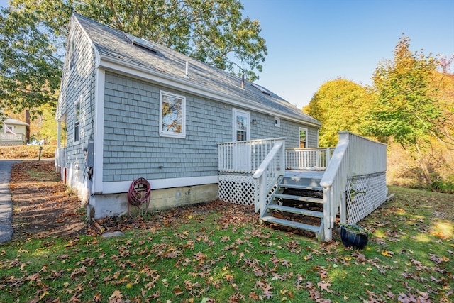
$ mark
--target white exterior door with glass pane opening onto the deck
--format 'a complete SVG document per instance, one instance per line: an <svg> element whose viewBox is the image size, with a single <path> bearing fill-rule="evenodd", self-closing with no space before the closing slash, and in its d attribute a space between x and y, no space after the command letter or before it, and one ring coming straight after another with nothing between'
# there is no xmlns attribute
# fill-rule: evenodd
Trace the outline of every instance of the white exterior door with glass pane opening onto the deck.
<svg viewBox="0 0 454 303"><path fill-rule="evenodd" d="M250 140L250 113L233 109L233 141ZM248 143L236 144L233 147L233 169L250 171L250 145Z"/></svg>

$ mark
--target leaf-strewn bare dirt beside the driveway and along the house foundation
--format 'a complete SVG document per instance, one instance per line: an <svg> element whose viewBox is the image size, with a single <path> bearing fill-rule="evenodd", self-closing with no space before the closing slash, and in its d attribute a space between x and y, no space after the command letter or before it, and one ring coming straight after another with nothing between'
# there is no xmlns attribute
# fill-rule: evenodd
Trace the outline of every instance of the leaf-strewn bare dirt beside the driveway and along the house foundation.
<svg viewBox="0 0 454 303"><path fill-rule="evenodd" d="M131 214L106 217L86 224L85 208L76 195L67 191L55 172L53 161L24 161L13 165L11 172L13 197L13 238L100 236L106 231L158 229L185 224L195 218L204 219L209 212L222 213L220 224L259 224L252 206L214 201L180 206L167 211L153 211L146 216ZM152 194L153 195L153 194ZM153 197L152 197L153 198Z"/></svg>

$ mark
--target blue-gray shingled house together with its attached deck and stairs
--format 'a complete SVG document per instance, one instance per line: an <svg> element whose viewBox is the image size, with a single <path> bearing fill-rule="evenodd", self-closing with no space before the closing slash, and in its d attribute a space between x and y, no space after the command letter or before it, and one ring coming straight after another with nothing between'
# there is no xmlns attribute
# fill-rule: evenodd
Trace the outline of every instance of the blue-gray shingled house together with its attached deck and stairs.
<svg viewBox="0 0 454 303"><path fill-rule="evenodd" d="M386 145L318 148L319 121L265 87L77 13L57 121L55 165L95 219L126 213L140 178L150 209L222 199L321 241L387 199Z"/></svg>

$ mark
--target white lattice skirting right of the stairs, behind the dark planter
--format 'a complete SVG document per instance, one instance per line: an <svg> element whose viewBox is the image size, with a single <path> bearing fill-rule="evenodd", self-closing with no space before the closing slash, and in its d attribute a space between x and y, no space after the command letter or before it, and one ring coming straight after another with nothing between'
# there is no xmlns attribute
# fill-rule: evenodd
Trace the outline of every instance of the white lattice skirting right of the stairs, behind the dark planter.
<svg viewBox="0 0 454 303"><path fill-rule="evenodd" d="M347 222L355 224L387 199L386 174L353 177L345 186Z"/></svg>

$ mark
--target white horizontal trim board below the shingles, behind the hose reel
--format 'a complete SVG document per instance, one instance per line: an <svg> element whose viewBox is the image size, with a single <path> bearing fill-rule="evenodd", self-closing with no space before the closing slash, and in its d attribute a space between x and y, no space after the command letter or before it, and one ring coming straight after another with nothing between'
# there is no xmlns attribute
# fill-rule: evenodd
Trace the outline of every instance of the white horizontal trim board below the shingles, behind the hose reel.
<svg viewBox="0 0 454 303"><path fill-rule="evenodd" d="M131 187L133 180L131 181L119 181L119 182L104 182L102 192L97 194L119 194L122 192L128 192ZM175 188L175 187L187 187L204 184L216 184L218 183L218 176L205 176L205 177L186 177L186 178L169 178L169 179L153 179L148 180L150 182L151 189L163 189L163 188ZM96 193L95 193L96 194Z"/></svg>

